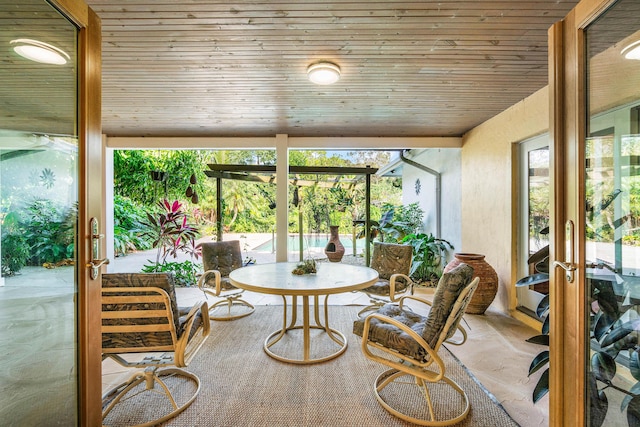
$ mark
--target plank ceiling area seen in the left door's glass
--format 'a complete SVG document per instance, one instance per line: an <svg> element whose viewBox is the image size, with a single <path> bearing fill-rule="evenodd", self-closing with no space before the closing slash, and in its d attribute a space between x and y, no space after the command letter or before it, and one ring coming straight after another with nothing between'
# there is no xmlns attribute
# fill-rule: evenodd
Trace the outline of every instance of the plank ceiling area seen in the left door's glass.
<svg viewBox="0 0 640 427"><path fill-rule="evenodd" d="M25 38L62 49L70 61L46 65L18 56L11 41ZM75 27L42 0L0 0L0 137L6 130L75 133L76 39Z"/></svg>

